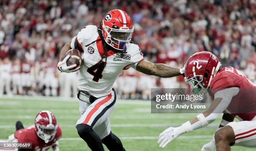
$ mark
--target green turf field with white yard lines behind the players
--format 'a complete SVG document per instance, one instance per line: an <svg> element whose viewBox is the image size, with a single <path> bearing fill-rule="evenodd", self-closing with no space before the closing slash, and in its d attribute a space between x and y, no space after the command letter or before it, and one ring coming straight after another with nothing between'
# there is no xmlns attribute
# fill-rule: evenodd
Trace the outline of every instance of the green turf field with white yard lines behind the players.
<svg viewBox="0 0 256 151"><path fill-rule="evenodd" d="M15 121L25 127L33 124L40 110L50 110L62 128L59 141L61 151L90 151L75 128L80 117L78 101L61 97L0 97L0 139L7 139L15 132ZM149 101L118 100L110 116L111 131L120 137L126 151L201 151L203 144L211 140L219 120L206 128L184 134L159 148L159 133L169 126L178 126L195 118L194 114L151 114ZM251 148L232 147L232 151L255 151ZM106 148L106 151L108 149Z"/></svg>

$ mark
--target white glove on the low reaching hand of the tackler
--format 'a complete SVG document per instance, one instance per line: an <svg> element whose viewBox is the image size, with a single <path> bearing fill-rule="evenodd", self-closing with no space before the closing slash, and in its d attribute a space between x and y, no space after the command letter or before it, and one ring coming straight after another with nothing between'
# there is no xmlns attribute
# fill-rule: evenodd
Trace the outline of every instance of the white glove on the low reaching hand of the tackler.
<svg viewBox="0 0 256 151"><path fill-rule="evenodd" d="M159 147L164 148L172 140L179 137L180 134L181 133L179 132L179 128L169 127L159 135L159 140L157 143L160 143Z"/></svg>

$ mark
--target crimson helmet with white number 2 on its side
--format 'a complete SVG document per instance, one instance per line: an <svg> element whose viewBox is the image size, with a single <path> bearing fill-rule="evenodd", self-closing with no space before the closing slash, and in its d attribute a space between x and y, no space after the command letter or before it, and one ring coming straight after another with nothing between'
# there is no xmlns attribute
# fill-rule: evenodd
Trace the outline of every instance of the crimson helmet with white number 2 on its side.
<svg viewBox="0 0 256 151"><path fill-rule="evenodd" d="M207 51L195 53L184 66L184 79L190 84L193 92L205 94L220 66L220 61L214 54Z"/></svg>

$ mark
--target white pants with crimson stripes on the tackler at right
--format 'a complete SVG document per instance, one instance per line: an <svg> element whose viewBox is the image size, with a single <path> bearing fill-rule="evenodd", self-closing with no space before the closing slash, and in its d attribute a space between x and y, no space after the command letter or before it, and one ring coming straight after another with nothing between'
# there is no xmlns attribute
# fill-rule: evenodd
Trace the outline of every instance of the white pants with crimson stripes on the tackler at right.
<svg viewBox="0 0 256 151"><path fill-rule="evenodd" d="M231 126L235 133L233 146L256 147L256 120L230 122L227 126ZM205 144L202 151L216 151L215 140Z"/></svg>

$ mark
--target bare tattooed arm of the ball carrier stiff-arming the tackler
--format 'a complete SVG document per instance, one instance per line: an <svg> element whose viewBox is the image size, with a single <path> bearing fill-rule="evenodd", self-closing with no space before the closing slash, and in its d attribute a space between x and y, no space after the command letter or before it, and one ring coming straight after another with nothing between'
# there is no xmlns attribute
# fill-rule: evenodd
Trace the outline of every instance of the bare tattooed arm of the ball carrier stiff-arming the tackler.
<svg viewBox="0 0 256 151"><path fill-rule="evenodd" d="M170 67L166 64L154 64L149 61L141 61L137 64L136 70L148 75L154 75L157 77L176 77L184 73L183 69Z"/></svg>

